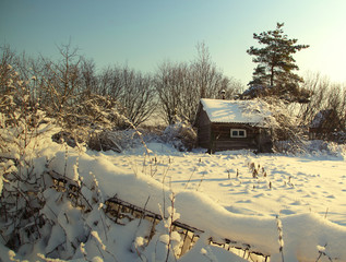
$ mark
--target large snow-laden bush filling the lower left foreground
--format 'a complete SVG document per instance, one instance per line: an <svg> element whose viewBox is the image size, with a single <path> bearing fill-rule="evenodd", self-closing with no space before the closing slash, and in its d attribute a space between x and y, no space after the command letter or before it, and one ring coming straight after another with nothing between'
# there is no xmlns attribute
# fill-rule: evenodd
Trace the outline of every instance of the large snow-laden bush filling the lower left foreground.
<svg viewBox="0 0 346 262"><path fill-rule="evenodd" d="M86 258L83 247L93 245L103 250L102 258L114 261L95 237L106 235L111 224L99 212L104 200L96 178L90 174L83 182L77 157L68 168L67 144L62 144L61 174L51 168L55 151L61 148L53 147L46 134L52 126L44 121L45 112L31 105L28 85L15 72L10 80L0 112L0 260L13 261L17 255L19 260L70 260L79 253ZM97 227L102 230L93 234Z"/></svg>

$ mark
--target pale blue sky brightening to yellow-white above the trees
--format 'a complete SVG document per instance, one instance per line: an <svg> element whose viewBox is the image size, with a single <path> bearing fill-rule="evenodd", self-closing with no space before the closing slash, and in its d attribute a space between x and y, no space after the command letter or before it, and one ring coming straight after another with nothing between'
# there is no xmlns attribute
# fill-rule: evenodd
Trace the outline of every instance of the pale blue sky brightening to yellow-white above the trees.
<svg viewBox="0 0 346 262"><path fill-rule="evenodd" d="M153 72L166 59L191 61L204 41L223 72L247 84L253 33L274 29L311 47L295 56L299 74L346 82L345 0L1 0L0 44L55 58L72 40L98 69L124 64Z"/></svg>

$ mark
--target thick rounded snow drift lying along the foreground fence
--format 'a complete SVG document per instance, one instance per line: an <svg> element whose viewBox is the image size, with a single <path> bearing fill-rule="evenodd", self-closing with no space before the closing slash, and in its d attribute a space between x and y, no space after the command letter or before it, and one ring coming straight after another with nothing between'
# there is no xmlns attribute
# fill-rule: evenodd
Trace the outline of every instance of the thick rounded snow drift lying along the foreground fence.
<svg viewBox="0 0 346 262"><path fill-rule="evenodd" d="M117 195L138 206L159 214L159 205L169 203L171 191L160 182L138 171L124 171L99 156L87 154L70 155L68 158L68 176L73 179L73 166L79 158L80 176L90 179L90 172L97 178L104 198ZM64 166L63 152L58 152L51 168L62 172ZM165 202L165 203L164 203ZM159 204L159 205L158 205ZM176 192L175 207L180 213L179 221L207 231L215 238L228 238L277 258L278 233L273 217L256 217L232 214L196 191ZM319 247L325 247L331 258L346 261L346 228L323 219L317 214L287 215L281 217L283 223L285 255L287 261L315 261Z"/></svg>

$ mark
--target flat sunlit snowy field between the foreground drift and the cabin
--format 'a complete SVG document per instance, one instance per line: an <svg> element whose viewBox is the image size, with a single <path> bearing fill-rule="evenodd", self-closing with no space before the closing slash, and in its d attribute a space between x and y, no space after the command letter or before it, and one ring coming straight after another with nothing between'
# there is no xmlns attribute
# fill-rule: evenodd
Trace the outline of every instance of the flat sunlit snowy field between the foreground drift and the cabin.
<svg viewBox="0 0 346 262"><path fill-rule="evenodd" d="M311 212L346 226L346 162L342 154L287 156L241 151L210 155L180 153L160 143L148 144L148 148L152 163L143 148L108 152L105 158L164 181L175 192L202 192L236 214L285 216Z"/></svg>

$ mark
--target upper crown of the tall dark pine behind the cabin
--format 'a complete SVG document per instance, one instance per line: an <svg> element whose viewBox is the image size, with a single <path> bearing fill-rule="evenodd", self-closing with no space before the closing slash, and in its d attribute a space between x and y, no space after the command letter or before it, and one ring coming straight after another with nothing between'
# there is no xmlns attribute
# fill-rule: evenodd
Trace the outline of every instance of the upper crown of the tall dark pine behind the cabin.
<svg viewBox="0 0 346 262"><path fill-rule="evenodd" d="M253 34L253 38L264 47L251 46L247 50L250 56L254 56L252 61L258 63L249 85L274 87L288 84L293 86L302 82L302 79L293 72L299 70L293 55L309 46L296 45L298 40L289 39L284 34L283 26L284 23L277 23L274 31Z"/></svg>

